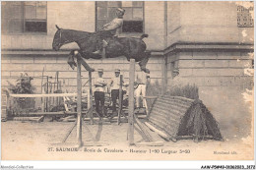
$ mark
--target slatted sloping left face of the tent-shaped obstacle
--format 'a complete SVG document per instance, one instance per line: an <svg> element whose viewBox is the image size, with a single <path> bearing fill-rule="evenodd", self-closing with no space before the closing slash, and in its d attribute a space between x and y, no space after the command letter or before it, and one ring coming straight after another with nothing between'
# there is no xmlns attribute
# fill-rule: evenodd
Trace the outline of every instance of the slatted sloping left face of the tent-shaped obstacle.
<svg viewBox="0 0 256 170"><path fill-rule="evenodd" d="M145 124L164 140L176 142L180 120L193 101L180 96L162 95L155 100L148 117L149 122Z"/></svg>

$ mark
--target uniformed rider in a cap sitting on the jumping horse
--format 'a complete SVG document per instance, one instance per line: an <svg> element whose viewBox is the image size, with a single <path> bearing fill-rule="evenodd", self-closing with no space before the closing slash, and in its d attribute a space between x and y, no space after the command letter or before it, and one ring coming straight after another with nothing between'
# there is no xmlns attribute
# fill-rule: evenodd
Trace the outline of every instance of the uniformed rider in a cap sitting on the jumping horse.
<svg viewBox="0 0 256 170"><path fill-rule="evenodd" d="M122 32L124 13L124 9L117 8L115 13L116 18L113 19L112 22L104 25L102 29L96 31L96 35L102 39L102 42L100 41L97 44L97 50L93 52L93 54L102 55L103 48L105 48L108 44L105 38L112 36L117 37Z"/></svg>

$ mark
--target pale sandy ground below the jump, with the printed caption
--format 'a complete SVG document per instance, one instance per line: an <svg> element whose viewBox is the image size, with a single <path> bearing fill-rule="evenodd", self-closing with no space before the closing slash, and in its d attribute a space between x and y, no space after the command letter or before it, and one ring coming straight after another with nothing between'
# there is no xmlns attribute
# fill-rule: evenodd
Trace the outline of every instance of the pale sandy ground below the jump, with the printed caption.
<svg viewBox="0 0 256 170"><path fill-rule="evenodd" d="M253 159L253 139L225 138L225 142L183 140L164 142L151 132L155 141L163 146L129 146L128 124L87 125L83 127L83 142L92 143L92 136L101 146L83 146L78 151L76 129L66 144L61 142L73 122L2 122L3 160L238 160ZM227 134L224 134L224 137ZM134 141L141 136L135 132ZM90 142L91 141L91 142ZM72 150L73 149L73 150ZM68 151L69 150L69 151ZM71 150L71 151L70 151ZM215 151L219 153L215 153ZM226 153L224 153L226 152Z"/></svg>

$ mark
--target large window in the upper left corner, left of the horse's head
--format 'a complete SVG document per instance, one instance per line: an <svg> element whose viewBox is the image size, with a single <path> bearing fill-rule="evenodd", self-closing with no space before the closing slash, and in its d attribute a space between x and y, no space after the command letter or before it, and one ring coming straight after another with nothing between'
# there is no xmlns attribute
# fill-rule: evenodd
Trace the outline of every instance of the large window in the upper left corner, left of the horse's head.
<svg viewBox="0 0 256 170"><path fill-rule="evenodd" d="M46 32L47 2L2 2L2 33Z"/></svg>

